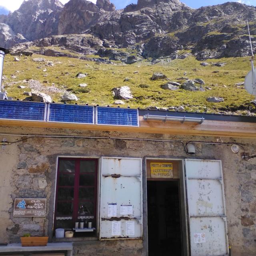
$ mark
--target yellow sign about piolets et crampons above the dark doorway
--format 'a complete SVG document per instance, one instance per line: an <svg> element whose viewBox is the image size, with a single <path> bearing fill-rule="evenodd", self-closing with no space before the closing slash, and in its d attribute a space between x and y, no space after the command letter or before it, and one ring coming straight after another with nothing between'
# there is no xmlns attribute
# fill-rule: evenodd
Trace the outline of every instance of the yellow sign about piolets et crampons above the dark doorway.
<svg viewBox="0 0 256 256"><path fill-rule="evenodd" d="M172 163L150 163L151 178L173 178Z"/></svg>

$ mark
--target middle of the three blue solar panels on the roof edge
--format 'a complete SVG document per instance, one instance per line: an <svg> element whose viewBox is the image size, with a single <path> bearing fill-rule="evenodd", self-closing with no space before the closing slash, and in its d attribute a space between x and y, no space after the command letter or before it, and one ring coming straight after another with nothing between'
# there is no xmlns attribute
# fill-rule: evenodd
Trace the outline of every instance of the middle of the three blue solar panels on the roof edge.
<svg viewBox="0 0 256 256"><path fill-rule="evenodd" d="M48 122L94 124L94 107L50 103Z"/></svg>

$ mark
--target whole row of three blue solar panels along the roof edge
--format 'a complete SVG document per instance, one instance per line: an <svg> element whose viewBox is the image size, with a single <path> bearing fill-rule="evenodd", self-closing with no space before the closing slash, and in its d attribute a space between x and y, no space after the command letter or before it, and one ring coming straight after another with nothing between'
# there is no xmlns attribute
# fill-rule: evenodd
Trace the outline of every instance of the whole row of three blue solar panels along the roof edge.
<svg viewBox="0 0 256 256"><path fill-rule="evenodd" d="M94 124L94 109L93 106L0 100L0 119ZM96 124L100 125L139 126L137 109L97 107L96 116Z"/></svg>

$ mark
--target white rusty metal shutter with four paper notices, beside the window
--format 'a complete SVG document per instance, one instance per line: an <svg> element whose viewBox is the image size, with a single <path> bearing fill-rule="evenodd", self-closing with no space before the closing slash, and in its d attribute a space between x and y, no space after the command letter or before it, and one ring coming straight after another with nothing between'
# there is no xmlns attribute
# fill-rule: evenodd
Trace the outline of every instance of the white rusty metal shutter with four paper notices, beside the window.
<svg viewBox="0 0 256 256"><path fill-rule="evenodd" d="M100 239L142 237L142 159L101 160Z"/></svg>

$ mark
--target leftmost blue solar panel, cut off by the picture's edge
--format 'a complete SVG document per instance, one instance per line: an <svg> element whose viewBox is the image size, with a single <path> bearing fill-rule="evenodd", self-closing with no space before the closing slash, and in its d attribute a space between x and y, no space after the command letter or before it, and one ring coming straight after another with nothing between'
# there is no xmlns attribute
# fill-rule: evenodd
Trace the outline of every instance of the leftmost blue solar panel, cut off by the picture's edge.
<svg viewBox="0 0 256 256"><path fill-rule="evenodd" d="M45 121L45 110L42 102L0 100L1 119Z"/></svg>

